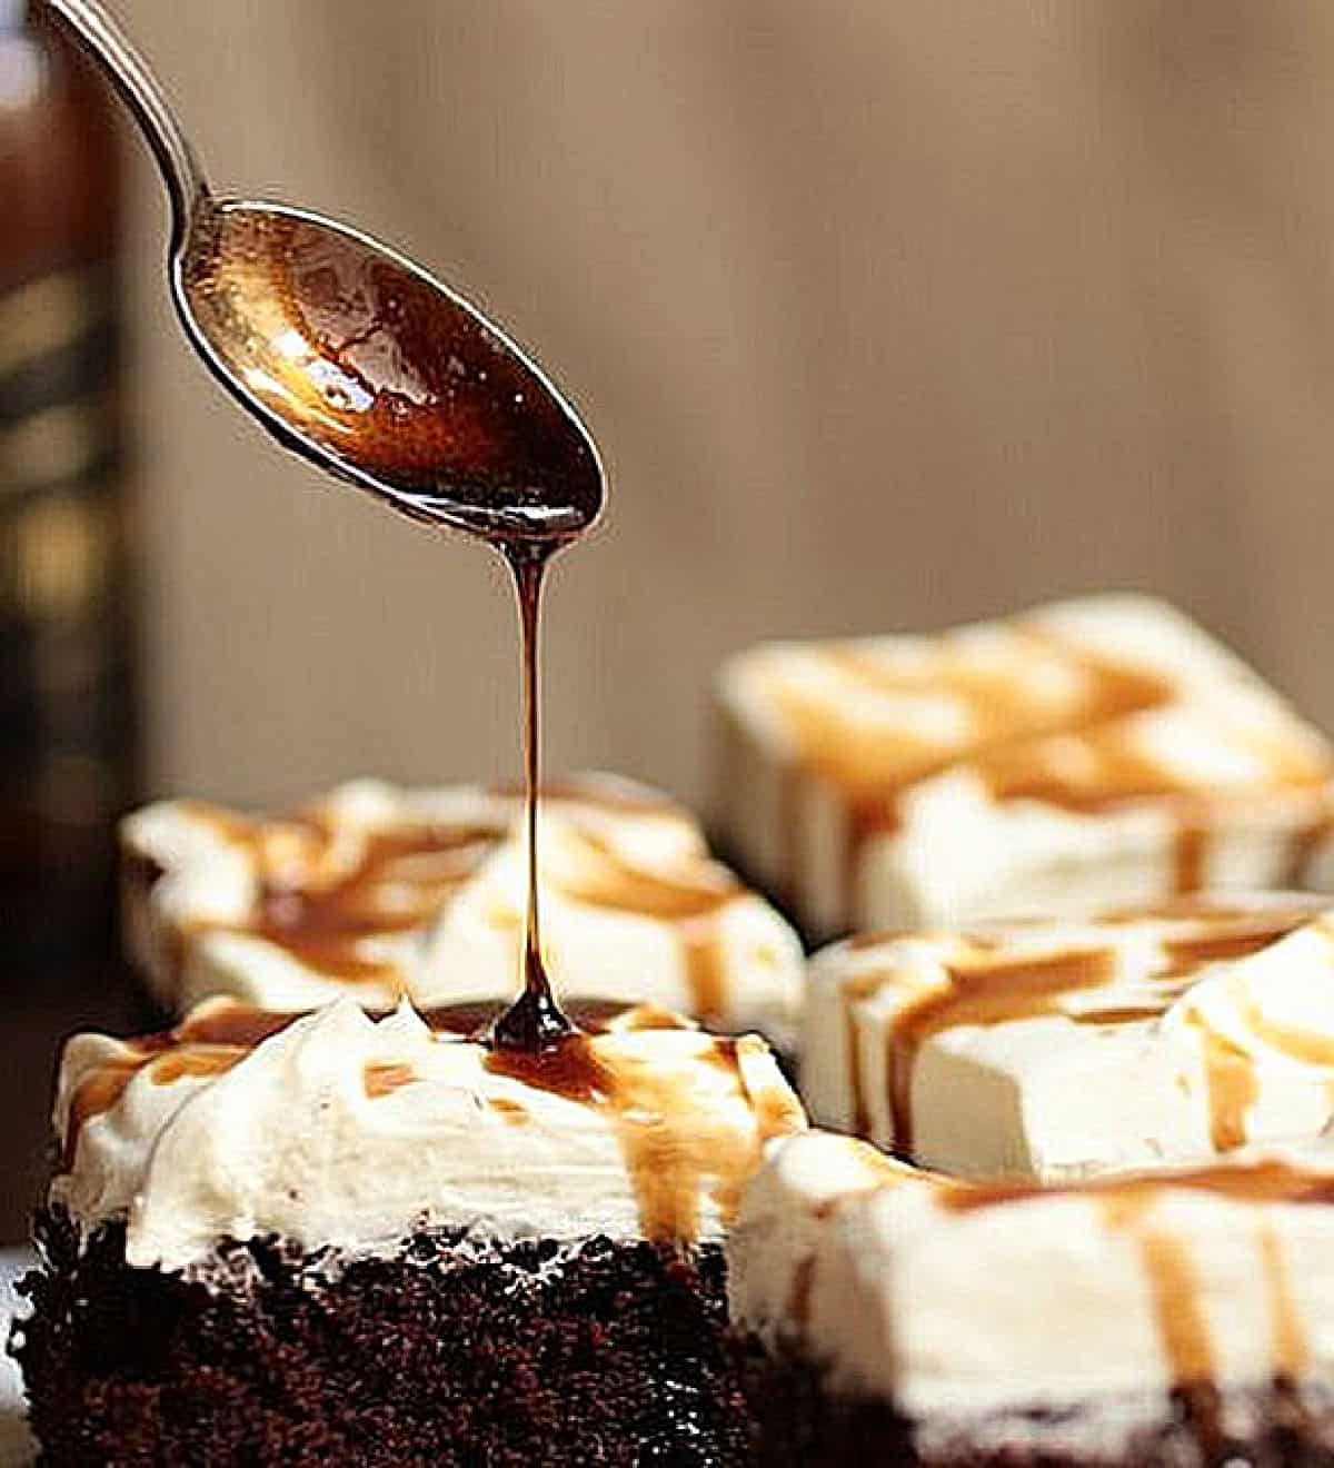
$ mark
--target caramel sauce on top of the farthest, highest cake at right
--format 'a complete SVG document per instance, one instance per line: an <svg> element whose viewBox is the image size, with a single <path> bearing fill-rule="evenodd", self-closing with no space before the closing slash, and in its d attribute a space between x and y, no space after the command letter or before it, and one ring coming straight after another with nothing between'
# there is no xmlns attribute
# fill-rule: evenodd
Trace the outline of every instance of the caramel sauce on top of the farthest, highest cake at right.
<svg viewBox="0 0 1334 1468"><path fill-rule="evenodd" d="M1240 787L1209 788L1155 759L1137 738L1136 716L1181 697L1173 681L1083 647L1035 625L1005 628L1001 642L969 644L944 637L920 656L876 656L854 644L819 656L834 686L770 677L770 696L795 744L784 772L785 876L800 890L800 813L804 781L839 790L848 806L844 916L856 912L856 882L866 843L898 828L904 794L954 768L973 771L996 802L1036 802L1074 815L1152 804L1173 821L1173 888L1206 885L1209 837L1220 806L1244 804L1266 791L1316 793L1334 769L1322 750L1239 734L1264 775ZM838 691L838 684L845 690ZM879 722L850 715L854 699L903 700L903 713ZM933 718L922 718L933 708ZM916 709L916 712L914 712ZM1296 875L1334 822L1321 815L1294 843Z"/></svg>

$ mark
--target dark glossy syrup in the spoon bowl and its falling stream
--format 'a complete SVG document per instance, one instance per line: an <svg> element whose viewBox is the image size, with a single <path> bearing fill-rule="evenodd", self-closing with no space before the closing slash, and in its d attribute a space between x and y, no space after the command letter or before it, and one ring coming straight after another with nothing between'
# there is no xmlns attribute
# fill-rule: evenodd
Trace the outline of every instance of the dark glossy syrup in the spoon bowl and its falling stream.
<svg viewBox="0 0 1334 1468"><path fill-rule="evenodd" d="M222 207L183 282L210 348L269 410L399 512L467 530L508 564L520 608L528 913L524 986L497 1048L574 1031L542 962L537 900L543 578L603 501L586 430L521 354L436 282L361 238Z"/></svg>

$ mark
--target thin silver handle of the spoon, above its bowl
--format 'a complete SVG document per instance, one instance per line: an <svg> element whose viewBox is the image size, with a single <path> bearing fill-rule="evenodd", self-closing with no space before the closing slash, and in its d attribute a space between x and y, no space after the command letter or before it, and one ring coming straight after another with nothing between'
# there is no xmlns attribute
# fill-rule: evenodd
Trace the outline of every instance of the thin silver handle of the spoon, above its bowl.
<svg viewBox="0 0 1334 1468"><path fill-rule="evenodd" d="M97 0L47 0L75 40L106 72L148 139L172 200L172 241L185 235L208 185L161 82Z"/></svg>

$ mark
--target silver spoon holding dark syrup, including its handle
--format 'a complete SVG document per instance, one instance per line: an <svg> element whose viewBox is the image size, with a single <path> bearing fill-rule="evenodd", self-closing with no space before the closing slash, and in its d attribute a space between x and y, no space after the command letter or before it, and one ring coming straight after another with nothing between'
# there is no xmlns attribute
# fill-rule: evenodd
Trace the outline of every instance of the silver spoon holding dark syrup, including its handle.
<svg viewBox="0 0 1334 1468"><path fill-rule="evenodd" d="M414 520L555 546L606 496L587 429L509 336L361 230L216 198L161 85L95 0L47 0L134 113L172 204L185 333L285 446Z"/></svg>

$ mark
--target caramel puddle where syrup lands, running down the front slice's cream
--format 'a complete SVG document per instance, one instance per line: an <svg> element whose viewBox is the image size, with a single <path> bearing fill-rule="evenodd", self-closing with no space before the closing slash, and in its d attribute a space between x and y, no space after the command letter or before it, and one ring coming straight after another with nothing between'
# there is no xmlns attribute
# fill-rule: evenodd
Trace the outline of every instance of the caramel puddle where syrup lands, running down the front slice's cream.
<svg viewBox="0 0 1334 1468"><path fill-rule="evenodd" d="M744 1091L740 1047L747 1039L715 1039L699 1063L715 1064ZM741 1191L759 1167L765 1142L804 1124L787 1088L751 1097L756 1127L740 1136L721 1122L709 1098L699 1098L687 1073L663 1075L650 1061L612 1064L594 1036L572 1033L540 1051L492 1050L487 1069L537 1091L606 1111L616 1124L625 1167L635 1189L644 1238L682 1243L699 1238L706 1195L731 1223Z"/></svg>

